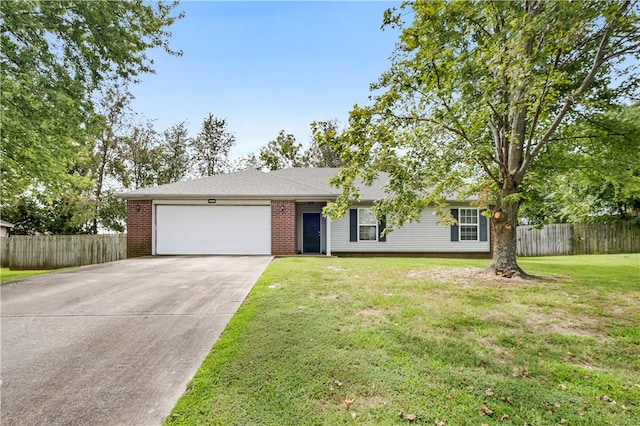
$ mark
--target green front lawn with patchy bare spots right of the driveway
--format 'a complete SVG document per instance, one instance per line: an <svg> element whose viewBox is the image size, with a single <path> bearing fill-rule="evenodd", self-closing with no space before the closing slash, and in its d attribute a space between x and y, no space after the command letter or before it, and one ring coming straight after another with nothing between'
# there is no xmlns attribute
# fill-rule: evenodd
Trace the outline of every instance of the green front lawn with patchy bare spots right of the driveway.
<svg viewBox="0 0 640 426"><path fill-rule="evenodd" d="M637 425L640 255L520 264L278 259L165 423Z"/></svg>

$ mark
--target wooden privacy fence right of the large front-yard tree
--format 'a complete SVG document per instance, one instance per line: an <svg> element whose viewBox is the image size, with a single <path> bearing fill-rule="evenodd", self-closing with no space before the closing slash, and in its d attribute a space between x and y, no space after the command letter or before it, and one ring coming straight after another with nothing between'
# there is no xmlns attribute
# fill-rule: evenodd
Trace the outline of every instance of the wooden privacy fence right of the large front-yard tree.
<svg viewBox="0 0 640 426"><path fill-rule="evenodd" d="M640 252L640 225L563 223L518 226L518 256Z"/></svg>

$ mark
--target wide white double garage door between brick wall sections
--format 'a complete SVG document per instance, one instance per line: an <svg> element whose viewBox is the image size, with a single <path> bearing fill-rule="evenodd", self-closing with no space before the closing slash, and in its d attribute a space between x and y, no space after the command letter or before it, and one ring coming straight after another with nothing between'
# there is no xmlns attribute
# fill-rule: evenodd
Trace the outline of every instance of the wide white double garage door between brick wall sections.
<svg viewBox="0 0 640 426"><path fill-rule="evenodd" d="M271 254L271 207L157 205L156 254Z"/></svg>

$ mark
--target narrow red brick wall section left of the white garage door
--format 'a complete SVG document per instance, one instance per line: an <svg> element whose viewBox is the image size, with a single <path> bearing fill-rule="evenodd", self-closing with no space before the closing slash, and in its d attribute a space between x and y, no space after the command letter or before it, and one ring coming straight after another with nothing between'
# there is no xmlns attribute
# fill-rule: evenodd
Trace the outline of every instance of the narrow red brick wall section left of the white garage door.
<svg viewBox="0 0 640 426"><path fill-rule="evenodd" d="M127 257L151 255L151 200L127 200Z"/></svg>

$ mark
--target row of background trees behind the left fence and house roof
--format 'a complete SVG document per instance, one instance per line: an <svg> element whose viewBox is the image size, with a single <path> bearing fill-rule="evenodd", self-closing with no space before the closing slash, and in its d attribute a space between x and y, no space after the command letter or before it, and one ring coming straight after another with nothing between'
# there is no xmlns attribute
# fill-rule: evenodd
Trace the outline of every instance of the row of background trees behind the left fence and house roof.
<svg viewBox="0 0 640 426"><path fill-rule="evenodd" d="M330 147L312 140L305 148L284 130L258 152L231 158L236 137L226 118L208 114L196 134L186 121L158 130L131 110L132 99L122 87L106 91L96 106L99 131L77 146L66 176L55 177L66 182L63 188L30 186L3 197L2 218L16 225L14 234L123 232L126 205L119 192L250 168L340 165ZM336 120L319 125L338 131Z"/></svg>

